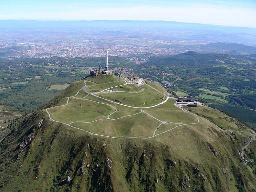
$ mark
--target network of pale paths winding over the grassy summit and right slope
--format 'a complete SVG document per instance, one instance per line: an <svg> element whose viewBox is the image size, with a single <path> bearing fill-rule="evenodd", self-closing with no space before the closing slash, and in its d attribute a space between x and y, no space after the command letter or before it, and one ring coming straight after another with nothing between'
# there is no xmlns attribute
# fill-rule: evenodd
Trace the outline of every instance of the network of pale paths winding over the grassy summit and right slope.
<svg viewBox="0 0 256 192"><path fill-rule="evenodd" d="M120 79L119 79L119 80L120 80ZM117 80L117 81L119 81L119 80ZM117 81L113 81L113 82L117 82ZM144 81L144 82L145 82L145 81ZM111 119L111 118L110 118L110 115L112 115L112 114L114 114L115 112L117 112L118 109L116 109L114 106L109 105L109 104L106 104L106 103L97 102L97 101L93 101L93 100L89 100L89 99L84 99L84 98L86 98L88 95L92 95L92 96L98 97L98 98L103 99L103 100L107 100L107 101L109 101L109 102L112 102L112 103L115 103L115 104L118 104L118 105L122 105L122 106L126 106L126 107L131 107L131 108L138 108L138 109L146 109L146 108L156 107L156 106L159 106L159 105L162 105L162 104L166 103L166 102L168 101L168 99L169 99L169 94L168 94L168 96L167 96L167 98L165 99L165 101L163 101L163 102L161 102L161 103L159 103L159 104L156 104L156 105L154 105L154 106L150 106L150 107L133 107L133 106L124 105L124 104L121 104L121 103L118 103L118 102L115 102L115 101L111 101L111 100L108 100L108 99L99 97L99 96L95 95L94 93L89 93L89 92L86 91L86 88L88 88L88 86L86 86L86 81L84 81L84 83L85 83L85 86L83 86L74 96L68 97L66 104L60 105L60 106L54 106L54 107L50 107L50 108L47 108L47 109L46 109L46 112L47 112L49 118L50 118L52 121L65 124L65 125L67 125L67 126L69 126L69 127L72 127L72 128L75 128L75 129L78 129L78 130L81 130L81 131L85 131L85 132L87 132L87 133L89 133L89 134L92 134L92 135L102 136L102 137L107 137L107 138L113 138L113 139L151 139L151 138L154 138L154 137L156 137L156 136L159 136L159 135L162 135L162 134L164 134L164 133L167 133L167 132L169 132L169 131L171 131L171 130L177 128L177 127L181 127L181 126L185 126L185 125L193 125L193 124L199 123L199 118L198 118L198 116L197 116L196 114L193 114L193 113L189 112L188 110L186 110L186 109L184 109L184 108L182 108L182 107L179 107L179 108L180 108L181 110L183 110L185 113L190 113L190 114L195 115L195 116L196 116L196 119L197 119L197 122L184 124L184 123L173 123L173 122L168 122L168 121L161 121L161 120L157 119L156 117L152 116L151 114L145 112L144 110L141 110L139 113L132 114L132 115L126 115L126 116L123 116L123 117L120 117L120 118L117 118L117 119L125 118L125 117L128 117L128 116L134 116L134 115L137 115L137 114L140 114L140 113L145 113L145 114L147 114L147 115L150 116L151 118L154 118L155 120L157 120L157 121L160 122L160 124L158 125L158 127L156 127L156 129L155 129L155 131L153 132L153 135L152 135L151 137L112 137L112 136L96 134L96 133L92 133L92 132L90 132L90 131L86 131L86 130L84 130L84 129L80 129L80 128L78 128L78 127L72 126L71 124L72 124L72 123L76 123L76 122L80 122L80 123L92 123L92 122L95 122L95 121L106 120L106 119L117 120L117 119ZM107 82L107 83L111 83L111 82ZM101 83L101 84L106 84L106 83ZM128 83L126 82L124 85L126 85L126 84L128 84ZM96 85L100 85L100 84L96 84ZM147 84L147 85L148 85L148 84ZM95 86L95 85L91 85L91 86ZM91 86L89 86L89 87L91 87ZM114 87L119 87L119 86L122 86L122 85L118 85L118 86L114 86ZM151 87L151 88L153 88L153 87L150 86L150 85L148 85L148 86ZM111 88L114 88L114 87L111 87ZM108 88L108 89L110 89L110 88ZM105 89L105 90L108 90L108 89ZM155 89L155 88L153 88L153 89ZM77 96L78 93L79 93L81 90L83 90L84 92L86 92L88 95L85 96L85 97L83 97L83 98L76 98L75 96ZM105 91L105 90L103 90L103 91ZM155 89L155 90L158 91L158 92L160 92L160 91L157 90L157 89ZM101 92L102 92L102 91L101 91ZM131 93L133 93L133 92L131 92ZM163 94L162 92L160 92L160 93ZM163 94L163 95L165 95L165 94ZM115 109L115 111L114 111L113 113L111 113L110 115L108 115L107 118L98 119L98 120L91 121L91 122L75 121L75 122L71 122L71 123L67 124L67 123L60 122L60 121L56 121L56 120L52 119L50 113L48 112L48 109L55 108L55 107L66 106L66 105L68 104L69 99L70 99L71 97L73 97L73 98L75 98L75 99L88 100L88 101L92 101L92 102L96 102L96 103L101 103L101 104L109 105L109 106L113 107L113 108ZM171 129L168 129L168 130L166 130L166 131L163 131L163 132L161 132L161 133L155 134L156 131L159 129L159 127L160 127L162 124L165 124L165 125L166 125L166 124L168 124L168 123L179 124L179 125L177 125L177 126L171 128ZM237 130L224 130L224 129L223 129L223 131L227 131L227 132L243 132L243 133L248 133L248 134L250 134L250 135L253 136L252 140L250 140L250 142L249 142L246 146L244 146L244 147L242 148L241 157L242 157L242 159L245 161L245 163L247 163L248 160L246 160L245 157L244 157L244 155L245 155L245 149L251 144L251 142L252 142L253 140L255 140L255 134L252 134L252 133L246 132L246 131L237 131Z"/></svg>

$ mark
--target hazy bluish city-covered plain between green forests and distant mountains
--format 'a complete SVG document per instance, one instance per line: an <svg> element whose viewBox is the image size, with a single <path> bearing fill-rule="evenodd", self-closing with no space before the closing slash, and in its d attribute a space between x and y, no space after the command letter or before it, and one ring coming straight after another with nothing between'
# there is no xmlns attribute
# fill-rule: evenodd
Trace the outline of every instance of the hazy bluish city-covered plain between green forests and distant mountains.
<svg viewBox="0 0 256 192"><path fill-rule="evenodd" d="M3 21L0 21L0 56L7 59L104 57L105 47L108 45L109 56L125 57L135 63L143 63L153 56L175 55L187 51L233 53L233 50L225 46L215 46L214 49L205 46L209 43L243 42L248 46L256 45L254 30L250 28L215 29L211 26L209 29L209 26L198 24L200 28L196 29L198 26L172 22L163 26L160 22L157 24L159 28L152 28L151 23L142 22L135 29L129 28L129 23L125 22L123 27L116 27L115 22L103 22L99 24L102 28L89 28L83 23L79 23L81 26L68 23L59 28L42 29L37 21L32 24L29 21L17 21L18 23L13 24L13 30L12 22L9 25L1 22Z"/></svg>

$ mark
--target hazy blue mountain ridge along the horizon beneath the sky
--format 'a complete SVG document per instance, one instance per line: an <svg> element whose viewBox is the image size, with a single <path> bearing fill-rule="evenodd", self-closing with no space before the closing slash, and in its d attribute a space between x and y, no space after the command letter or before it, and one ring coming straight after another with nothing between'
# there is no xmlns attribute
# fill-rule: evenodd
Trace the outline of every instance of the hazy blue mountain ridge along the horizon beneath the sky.
<svg viewBox="0 0 256 192"><path fill-rule="evenodd" d="M60 28L65 27L72 29L74 27L95 27L95 28L109 28L109 29L120 29L120 28L137 28L137 27L158 27L158 28L169 28L169 29L202 29L207 30L221 30L232 33L250 33L256 34L255 28L248 27L230 27L210 24L199 24L199 23L183 23L175 21L136 21L136 20L93 20L93 21L37 21L37 20L0 20L1 29L13 29L13 28Z"/></svg>

